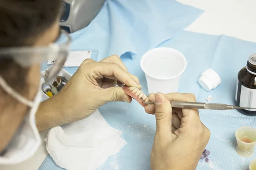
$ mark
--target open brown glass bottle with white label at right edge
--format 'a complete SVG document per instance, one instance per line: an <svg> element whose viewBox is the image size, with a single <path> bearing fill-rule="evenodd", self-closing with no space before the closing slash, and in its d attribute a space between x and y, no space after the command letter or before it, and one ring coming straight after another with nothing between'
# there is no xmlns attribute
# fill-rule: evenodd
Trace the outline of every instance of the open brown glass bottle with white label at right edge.
<svg viewBox="0 0 256 170"><path fill-rule="evenodd" d="M238 73L236 105L256 108L256 54L249 57L246 67ZM256 116L256 109L241 109L241 113Z"/></svg>

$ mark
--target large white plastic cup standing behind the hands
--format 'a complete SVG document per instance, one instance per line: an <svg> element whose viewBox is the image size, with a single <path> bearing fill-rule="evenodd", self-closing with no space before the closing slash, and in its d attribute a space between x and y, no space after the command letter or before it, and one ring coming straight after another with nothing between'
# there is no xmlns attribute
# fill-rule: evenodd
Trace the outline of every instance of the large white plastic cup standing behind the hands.
<svg viewBox="0 0 256 170"><path fill-rule="evenodd" d="M140 66L147 79L149 94L175 93L186 68L186 59L175 49L154 48L143 55Z"/></svg>

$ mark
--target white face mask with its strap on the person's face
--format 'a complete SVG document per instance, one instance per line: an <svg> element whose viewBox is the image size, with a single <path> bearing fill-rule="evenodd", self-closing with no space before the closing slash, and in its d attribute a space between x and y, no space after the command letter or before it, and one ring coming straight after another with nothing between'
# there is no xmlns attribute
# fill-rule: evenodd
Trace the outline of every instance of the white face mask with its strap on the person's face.
<svg viewBox="0 0 256 170"><path fill-rule="evenodd" d="M17 164L33 156L41 144L41 138L35 125L35 113L41 102L41 92L38 89L34 101L29 101L14 91L1 76L0 87L14 99L30 107L15 136L6 147L5 153L0 156L0 164ZM0 138L3 137L0 136Z"/></svg>

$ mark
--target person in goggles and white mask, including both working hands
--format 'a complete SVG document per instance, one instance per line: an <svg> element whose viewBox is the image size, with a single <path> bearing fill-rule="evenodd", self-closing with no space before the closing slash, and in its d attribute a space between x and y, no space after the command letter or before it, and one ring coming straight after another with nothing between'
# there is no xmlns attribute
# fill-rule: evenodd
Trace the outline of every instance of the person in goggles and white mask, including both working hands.
<svg viewBox="0 0 256 170"><path fill-rule="evenodd" d="M58 25L61 0L0 0L0 164L17 164L38 149L39 132L88 117L111 101L131 102L122 86L142 88L121 59L86 59L55 96L41 102L40 65L58 56L57 73L70 37ZM67 42L56 44L59 35ZM49 79L54 77L49 74ZM152 170L194 170L210 132L198 110L172 109L169 100L195 102L192 94L150 94L145 111L155 113ZM39 132L38 132L39 131Z"/></svg>

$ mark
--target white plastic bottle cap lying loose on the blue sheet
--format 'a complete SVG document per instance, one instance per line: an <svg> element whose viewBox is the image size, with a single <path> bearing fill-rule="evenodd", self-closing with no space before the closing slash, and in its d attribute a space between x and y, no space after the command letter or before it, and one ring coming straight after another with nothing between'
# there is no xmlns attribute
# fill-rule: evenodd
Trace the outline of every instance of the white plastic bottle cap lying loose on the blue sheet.
<svg viewBox="0 0 256 170"><path fill-rule="evenodd" d="M214 70L208 68L198 79L198 83L204 90L210 91L221 84L221 77Z"/></svg>

